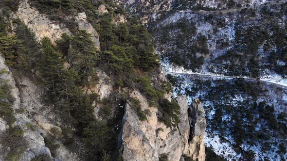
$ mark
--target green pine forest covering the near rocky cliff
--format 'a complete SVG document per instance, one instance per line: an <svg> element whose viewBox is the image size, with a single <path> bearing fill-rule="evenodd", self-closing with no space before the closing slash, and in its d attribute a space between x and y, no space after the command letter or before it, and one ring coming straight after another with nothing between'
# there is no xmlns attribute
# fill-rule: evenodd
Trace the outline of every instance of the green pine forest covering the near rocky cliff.
<svg viewBox="0 0 287 161"><path fill-rule="evenodd" d="M43 100L49 105L54 105L54 111L61 114L63 122L77 129L75 133L83 140L92 156L110 160L109 155L116 150L111 145L115 144L119 133L113 127L115 123L120 125L119 122L122 121L120 118L122 116L117 115L120 112L115 112L113 106L118 106L118 102L123 106L126 103L126 96L121 98L121 101L119 96L116 96L117 104L115 104L112 101L114 96L99 101L96 94L90 93L92 91L90 89L94 89L94 85L97 84L96 68L104 69L112 81L116 82L117 87L134 88L138 83L139 89L148 96L149 102L156 106L163 94L171 92L172 88L168 82L161 82L159 86L151 85L154 83L148 76L154 75L160 65L151 34L135 16L127 16L127 23L112 23L114 16L118 13L124 14L124 10L111 1L30 0L29 2L50 19L65 23L73 32L73 36L63 34L61 39L55 41L56 46L46 37L39 46L35 41L35 35L23 24L15 22L18 26L15 40L25 47L23 51L28 59L27 68L33 69L32 71L37 69L33 74L39 76L40 79L37 81L47 89L47 95ZM108 13L98 14L97 8L101 4L107 7ZM101 51L95 47L89 33L77 31L75 22L67 18L80 12L86 13L88 21L98 31ZM18 45L14 40L10 44L12 46L7 47ZM16 51L12 55L17 58ZM11 57L12 63L17 62L16 58ZM64 62L69 64L66 69L63 68ZM139 75L145 77L137 79ZM146 116L150 111L141 110L139 101L131 100L131 102L139 119L147 120ZM95 120L94 103L102 105L100 114L107 117L107 123ZM117 117L110 118L110 115L115 113ZM31 128L30 125L27 126ZM56 129L50 131L55 133ZM59 145L53 142L53 138L45 138L45 144L54 155Z"/></svg>

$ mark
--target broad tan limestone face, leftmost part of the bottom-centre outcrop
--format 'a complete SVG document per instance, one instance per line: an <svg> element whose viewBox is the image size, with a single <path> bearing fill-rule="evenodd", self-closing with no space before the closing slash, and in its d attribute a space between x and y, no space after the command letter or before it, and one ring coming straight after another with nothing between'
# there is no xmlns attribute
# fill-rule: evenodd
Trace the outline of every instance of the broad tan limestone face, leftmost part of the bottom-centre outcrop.
<svg viewBox="0 0 287 161"><path fill-rule="evenodd" d="M131 97L141 101L142 110L150 110L148 121L140 121L135 109L126 104L123 118L122 149L124 161L158 161L156 147L157 109L149 107L147 100L138 91L133 91Z"/></svg>

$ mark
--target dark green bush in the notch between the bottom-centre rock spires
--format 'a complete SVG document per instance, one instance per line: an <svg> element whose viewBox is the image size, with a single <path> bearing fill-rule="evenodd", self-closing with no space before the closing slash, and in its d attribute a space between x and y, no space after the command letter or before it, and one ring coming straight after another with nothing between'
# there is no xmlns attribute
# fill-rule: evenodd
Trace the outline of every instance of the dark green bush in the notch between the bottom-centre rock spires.
<svg viewBox="0 0 287 161"><path fill-rule="evenodd" d="M159 101L159 111L161 116L159 118L167 127L177 126L179 124L180 107L179 104L172 100L161 99Z"/></svg>

